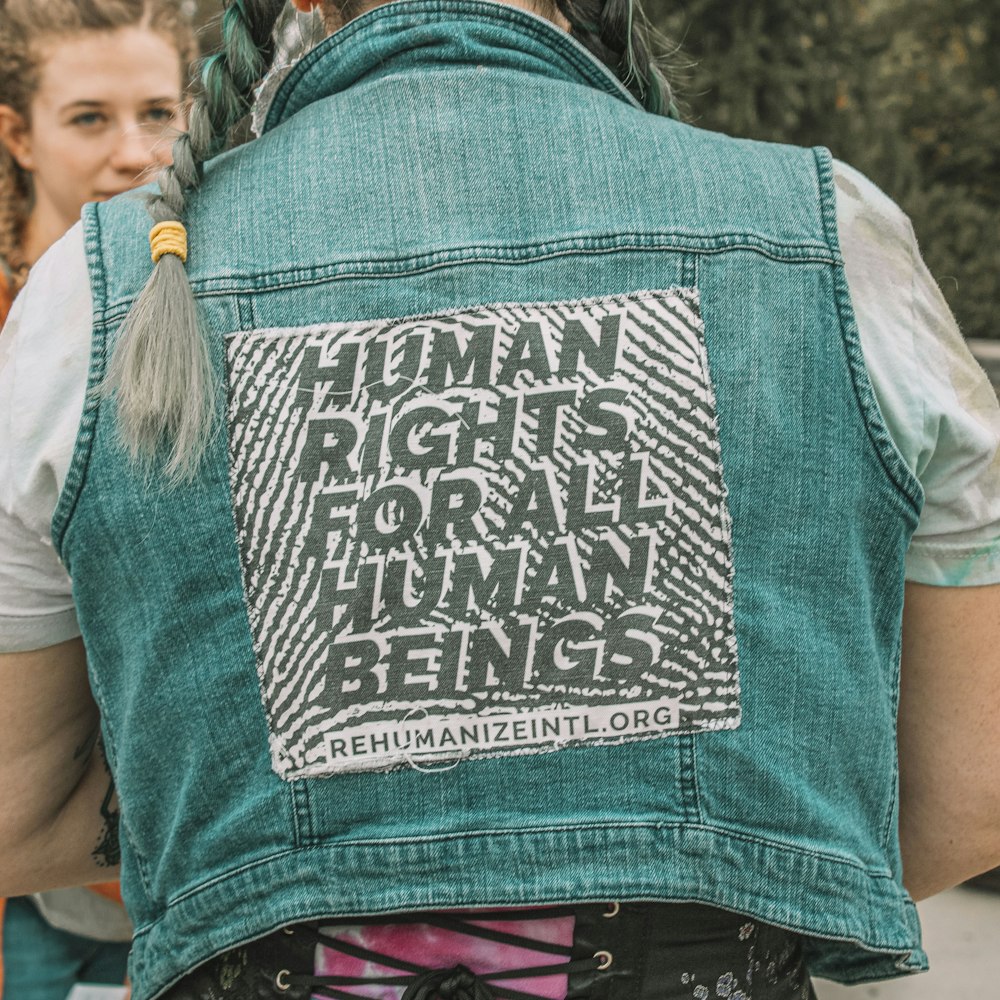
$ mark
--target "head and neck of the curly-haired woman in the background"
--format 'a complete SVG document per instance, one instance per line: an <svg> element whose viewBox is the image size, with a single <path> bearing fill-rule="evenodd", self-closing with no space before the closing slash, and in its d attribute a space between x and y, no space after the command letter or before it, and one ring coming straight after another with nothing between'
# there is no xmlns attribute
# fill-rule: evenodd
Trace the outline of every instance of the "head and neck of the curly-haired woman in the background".
<svg viewBox="0 0 1000 1000"><path fill-rule="evenodd" d="M0 319L84 204L170 162L193 56L170 0L0 7Z"/></svg>

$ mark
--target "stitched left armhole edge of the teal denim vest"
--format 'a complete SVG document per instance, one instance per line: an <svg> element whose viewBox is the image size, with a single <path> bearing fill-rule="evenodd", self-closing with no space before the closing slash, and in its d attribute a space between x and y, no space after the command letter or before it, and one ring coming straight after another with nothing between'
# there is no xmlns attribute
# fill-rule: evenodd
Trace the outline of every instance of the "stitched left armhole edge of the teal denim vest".
<svg viewBox="0 0 1000 1000"><path fill-rule="evenodd" d="M76 443L73 447L73 456L66 471L66 481L63 483L55 512L52 515L52 542L59 558L68 570L70 570L70 566L63 553L63 543L73 512L76 509L80 490L86 479L87 465L90 461L90 452L94 441L94 429L101 404L97 387L104 381L104 372L107 366L108 320L105 316L107 276L101 248L101 222L97 210L97 204L84 205L81 217L87 270L90 274L91 297L90 366L87 374L87 392L84 397L80 426L77 429ZM72 570L70 573L72 575Z"/></svg>

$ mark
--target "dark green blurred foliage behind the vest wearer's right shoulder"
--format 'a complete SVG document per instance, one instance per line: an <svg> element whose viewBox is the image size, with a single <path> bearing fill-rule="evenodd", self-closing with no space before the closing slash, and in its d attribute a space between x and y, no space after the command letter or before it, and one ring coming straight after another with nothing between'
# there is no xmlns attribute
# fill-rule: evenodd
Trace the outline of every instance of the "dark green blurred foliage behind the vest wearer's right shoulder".
<svg viewBox="0 0 1000 1000"><path fill-rule="evenodd" d="M1000 337L998 0L648 0L690 120L829 146L913 219L967 336Z"/></svg>

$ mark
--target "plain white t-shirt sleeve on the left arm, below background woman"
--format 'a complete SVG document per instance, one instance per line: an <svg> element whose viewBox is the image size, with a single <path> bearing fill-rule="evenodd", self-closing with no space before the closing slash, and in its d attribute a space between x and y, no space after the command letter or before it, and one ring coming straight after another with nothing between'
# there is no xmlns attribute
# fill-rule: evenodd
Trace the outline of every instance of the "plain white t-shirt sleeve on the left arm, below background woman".
<svg viewBox="0 0 1000 1000"><path fill-rule="evenodd" d="M0 652L80 634L51 522L90 364L90 279L77 225L34 266L0 333Z"/></svg>

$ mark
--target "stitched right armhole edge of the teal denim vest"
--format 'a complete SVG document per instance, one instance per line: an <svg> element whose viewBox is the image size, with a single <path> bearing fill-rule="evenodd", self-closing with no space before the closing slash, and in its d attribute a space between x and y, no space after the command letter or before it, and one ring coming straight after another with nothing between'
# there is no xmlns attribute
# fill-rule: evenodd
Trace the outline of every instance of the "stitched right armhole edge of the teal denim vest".
<svg viewBox="0 0 1000 1000"><path fill-rule="evenodd" d="M865 363L861 347L861 335L858 331L854 306L851 302L851 292L847 285L847 274L844 269L844 258L840 248L840 231L837 224L837 193L833 176L833 155L822 146L814 148L816 158L816 173L819 183L820 211L822 213L823 233L827 245L833 252L835 265L832 268L834 281L834 298L840 321L841 343L847 358L851 383L854 387L854 397L858 404L861 419L868 432L871 442L886 475L892 484L912 509L914 517L919 517L923 507L924 490L920 480L906 464L899 449L896 447L889 428L882 416L882 410L875 396L868 366Z"/></svg>

